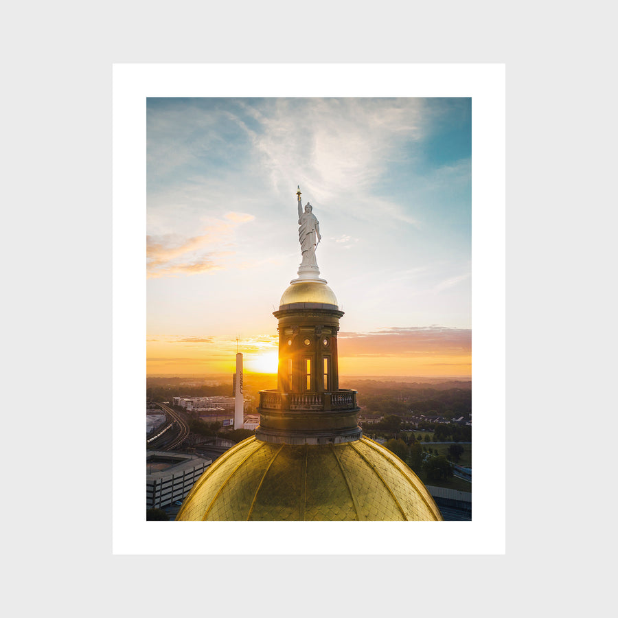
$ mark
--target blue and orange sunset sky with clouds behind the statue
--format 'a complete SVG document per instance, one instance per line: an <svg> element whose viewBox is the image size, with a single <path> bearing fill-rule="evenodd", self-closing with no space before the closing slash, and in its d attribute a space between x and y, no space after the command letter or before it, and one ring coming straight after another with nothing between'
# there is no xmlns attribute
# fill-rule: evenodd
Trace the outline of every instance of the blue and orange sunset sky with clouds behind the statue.
<svg viewBox="0 0 618 618"><path fill-rule="evenodd" d="M146 131L149 375L276 371L298 185L340 375L470 377L470 98L148 98Z"/></svg>

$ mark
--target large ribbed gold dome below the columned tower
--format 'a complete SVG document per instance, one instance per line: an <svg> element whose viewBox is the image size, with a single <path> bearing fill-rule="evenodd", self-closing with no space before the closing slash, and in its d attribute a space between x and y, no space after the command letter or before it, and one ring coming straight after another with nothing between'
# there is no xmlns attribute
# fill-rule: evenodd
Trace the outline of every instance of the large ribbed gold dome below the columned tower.
<svg viewBox="0 0 618 618"><path fill-rule="evenodd" d="M373 440L290 446L251 436L202 474L176 521L442 521L422 481Z"/></svg>

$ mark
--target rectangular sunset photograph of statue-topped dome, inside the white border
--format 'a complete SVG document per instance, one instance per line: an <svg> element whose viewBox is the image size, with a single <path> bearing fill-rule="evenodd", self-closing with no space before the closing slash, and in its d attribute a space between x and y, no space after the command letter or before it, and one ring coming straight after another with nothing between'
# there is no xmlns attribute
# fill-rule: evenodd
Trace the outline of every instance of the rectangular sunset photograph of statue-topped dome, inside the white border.
<svg viewBox="0 0 618 618"><path fill-rule="evenodd" d="M146 520L472 518L472 97L146 105Z"/></svg>

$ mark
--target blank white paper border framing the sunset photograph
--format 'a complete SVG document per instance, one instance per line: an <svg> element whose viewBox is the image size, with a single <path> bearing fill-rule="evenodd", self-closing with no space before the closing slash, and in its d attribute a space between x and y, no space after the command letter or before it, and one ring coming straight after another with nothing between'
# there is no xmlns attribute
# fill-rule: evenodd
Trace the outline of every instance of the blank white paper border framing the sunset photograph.
<svg viewBox="0 0 618 618"><path fill-rule="evenodd" d="M471 522L146 522L146 98L472 97ZM113 66L113 553L505 553L505 66Z"/></svg>

